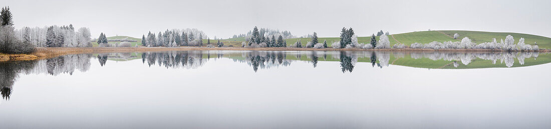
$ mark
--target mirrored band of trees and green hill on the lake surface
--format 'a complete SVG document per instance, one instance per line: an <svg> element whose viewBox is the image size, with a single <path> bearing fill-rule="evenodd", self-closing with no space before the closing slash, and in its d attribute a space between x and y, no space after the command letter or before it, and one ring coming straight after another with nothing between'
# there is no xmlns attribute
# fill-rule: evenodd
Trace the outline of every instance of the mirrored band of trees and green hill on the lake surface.
<svg viewBox="0 0 551 129"><path fill-rule="evenodd" d="M211 54L213 56L211 56ZM97 58L100 66L107 62L140 59L149 67L158 65L167 69L196 69L207 61L227 58L235 63L259 69L290 66L293 62L310 63L313 68L319 61L339 61L341 71L353 72L358 62L364 62L373 68L386 68L389 65L410 66L428 69L474 69L500 68L512 66L531 66L551 62L548 53L538 52L364 52L364 51L328 51L328 52L272 52L272 51L167 51L143 53L102 53L63 55L61 57L0 63L0 91L3 99L9 99L12 86L19 74L60 74L72 75L75 70L82 72L90 69L90 61ZM543 56L543 59L537 59ZM322 57L322 58L320 58ZM529 59L530 60L526 60ZM533 58L533 59L532 59ZM484 61L488 60L488 61ZM498 63L498 60L499 63ZM515 60L517 64L515 64ZM338 68L336 68L338 69Z"/></svg>

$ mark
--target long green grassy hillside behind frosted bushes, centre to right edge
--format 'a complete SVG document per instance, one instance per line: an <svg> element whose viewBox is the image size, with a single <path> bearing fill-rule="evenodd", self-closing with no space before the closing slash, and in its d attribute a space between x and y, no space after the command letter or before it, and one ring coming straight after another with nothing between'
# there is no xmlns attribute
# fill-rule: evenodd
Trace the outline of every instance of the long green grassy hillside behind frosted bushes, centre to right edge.
<svg viewBox="0 0 551 129"><path fill-rule="evenodd" d="M455 33L458 33L460 35L460 37L457 40L452 38L453 34ZM398 42L404 43L409 46L410 44L413 44L415 42L418 42L418 43L430 43L433 41L437 41L437 42L454 41L455 42L455 41L461 41L463 37L468 37L473 42L476 42L476 43L491 42L493 38L496 38L499 42L501 39L505 39L507 35L511 35L515 37L515 43L518 42L518 40L522 37L522 38L525 38L526 44L534 44L534 42L537 42L539 48L551 48L551 38L549 37L530 35L525 33L512 33L512 32L453 31L453 30L452 31L419 31L419 32L393 34L393 35L389 35L388 38L390 40L391 46ZM377 36L376 38L377 40L379 40L379 36ZM369 43L370 39L371 39L371 36L358 37L358 42ZM287 44L288 45L293 44L298 40L301 40L302 45L304 46L311 39L310 38L290 38L290 39L287 39ZM323 40L327 40L327 44L331 46L333 42L339 41L339 37L320 37L318 38L318 40L320 42L323 42ZM245 37L229 38L223 41L240 43L245 41Z"/></svg>

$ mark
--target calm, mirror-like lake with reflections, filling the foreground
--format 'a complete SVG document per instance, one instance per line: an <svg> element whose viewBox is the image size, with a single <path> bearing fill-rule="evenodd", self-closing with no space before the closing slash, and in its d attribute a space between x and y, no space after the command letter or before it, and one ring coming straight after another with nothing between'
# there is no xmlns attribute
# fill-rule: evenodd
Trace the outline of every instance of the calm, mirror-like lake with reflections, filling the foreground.
<svg viewBox="0 0 551 129"><path fill-rule="evenodd" d="M547 128L551 54L170 51L0 63L2 128Z"/></svg>

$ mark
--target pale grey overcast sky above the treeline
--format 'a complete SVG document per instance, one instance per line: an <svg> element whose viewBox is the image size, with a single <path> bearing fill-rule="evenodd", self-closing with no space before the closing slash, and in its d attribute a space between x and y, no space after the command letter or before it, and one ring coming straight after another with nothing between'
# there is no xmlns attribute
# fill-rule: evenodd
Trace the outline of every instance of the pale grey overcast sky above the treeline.
<svg viewBox="0 0 551 129"><path fill-rule="evenodd" d="M148 31L197 28L209 37L228 38L253 26L289 30L302 36L338 37L342 27L357 35L379 30L520 32L551 37L551 1L27 1L0 0L15 27L73 24L93 36L141 37Z"/></svg>

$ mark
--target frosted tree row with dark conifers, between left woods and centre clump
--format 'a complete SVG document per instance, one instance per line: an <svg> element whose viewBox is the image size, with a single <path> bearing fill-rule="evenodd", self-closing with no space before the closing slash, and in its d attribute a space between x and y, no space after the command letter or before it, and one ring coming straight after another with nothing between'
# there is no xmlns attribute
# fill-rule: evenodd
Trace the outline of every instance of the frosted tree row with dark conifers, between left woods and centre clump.
<svg viewBox="0 0 551 129"><path fill-rule="evenodd" d="M181 33L181 35L180 35ZM149 32L147 37L142 35L142 46L147 47L179 47L179 46L203 46L203 31L197 29L177 30L168 29L165 32Z"/></svg>

